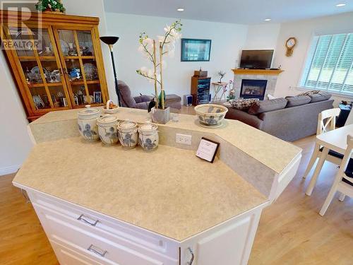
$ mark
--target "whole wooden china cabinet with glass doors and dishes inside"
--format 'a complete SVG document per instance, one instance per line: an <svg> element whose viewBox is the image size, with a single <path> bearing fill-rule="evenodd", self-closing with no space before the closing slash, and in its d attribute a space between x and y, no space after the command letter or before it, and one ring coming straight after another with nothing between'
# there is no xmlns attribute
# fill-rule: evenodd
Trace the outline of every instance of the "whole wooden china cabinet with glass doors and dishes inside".
<svg viewBox="0 0 353 265"><path fill-rule="evenodd" d="M1 42L30 121L107 102L99 18L1 11Z"/></svg>

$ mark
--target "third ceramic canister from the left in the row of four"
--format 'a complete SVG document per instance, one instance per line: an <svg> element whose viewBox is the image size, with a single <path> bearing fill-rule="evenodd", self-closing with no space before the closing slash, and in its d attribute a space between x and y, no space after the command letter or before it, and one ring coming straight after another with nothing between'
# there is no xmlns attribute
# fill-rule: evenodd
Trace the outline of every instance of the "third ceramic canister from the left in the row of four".
<svg viewBox="0 0 353 265"><path fill-rule="evenodd" d="M118 124L118 137L121 146L124 148L134 148L138 141L137 123L120 122Z"/></svg>

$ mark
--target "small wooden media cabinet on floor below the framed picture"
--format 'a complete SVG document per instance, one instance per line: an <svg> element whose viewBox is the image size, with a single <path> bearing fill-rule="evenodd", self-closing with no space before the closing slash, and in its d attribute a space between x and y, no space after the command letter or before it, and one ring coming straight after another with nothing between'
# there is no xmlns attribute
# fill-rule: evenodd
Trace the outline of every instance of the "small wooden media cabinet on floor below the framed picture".
<svg viewBox="0 0 353 265"><path fill-rule="evenodd" d="M191 95L193 95L193 105L210 102L210 77L191 77Z"/></svg>

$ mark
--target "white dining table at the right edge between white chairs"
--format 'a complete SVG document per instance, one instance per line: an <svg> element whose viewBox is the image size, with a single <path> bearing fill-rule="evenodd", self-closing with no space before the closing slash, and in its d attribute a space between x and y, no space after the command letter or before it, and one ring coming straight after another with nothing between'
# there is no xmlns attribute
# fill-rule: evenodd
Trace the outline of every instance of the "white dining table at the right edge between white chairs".
<svg viewBox="0 0 353 265"><path fill-rule="evenodd" d="M325 163L328 152L335 151L337 153L345 154L347 149L347 136L353 136L353 124L334 129L332 131L325 132L316 136L316 143L320 146L323 146L323 151L321 152L320 158L316 165L315 171L313 172L313 177L311 177L308 188L306 189L305 194L311 196L313 188L315 187L318 175L321 172L323 163ZM352 155L353 158L353 155Z"/></svg>

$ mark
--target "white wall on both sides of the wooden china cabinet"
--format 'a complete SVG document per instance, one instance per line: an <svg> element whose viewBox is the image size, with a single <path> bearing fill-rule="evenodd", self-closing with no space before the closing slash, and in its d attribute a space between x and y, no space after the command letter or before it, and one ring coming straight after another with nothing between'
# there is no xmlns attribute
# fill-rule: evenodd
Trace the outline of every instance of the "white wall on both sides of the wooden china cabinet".
<svg viewBox="0 0 353 265"><path fill-rule="evenodd" d="M100 34L106 33L107 24L104 19L102 0L64 0L68 15L100 17ZM107 47L105 52L105 69L109 82L109 90L114 91L114 77L110 66ZM26 114L20 101L16 83L13 82L6 63L4 52L0 52L0 83L1 83L1 130L0 130L0 175L16 172L27 157L32 143L28 136ZM113 94L114 95L114 94Z"/></svg>

